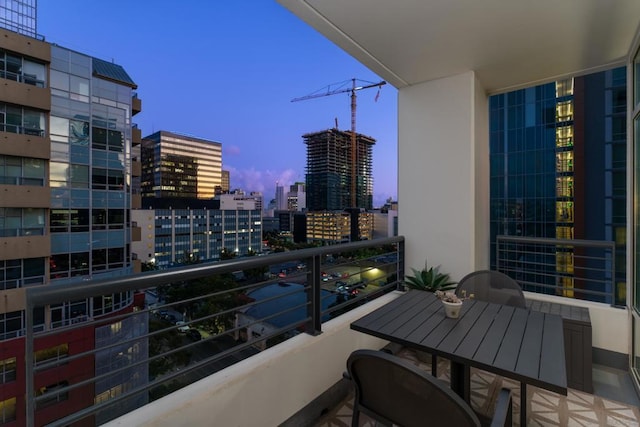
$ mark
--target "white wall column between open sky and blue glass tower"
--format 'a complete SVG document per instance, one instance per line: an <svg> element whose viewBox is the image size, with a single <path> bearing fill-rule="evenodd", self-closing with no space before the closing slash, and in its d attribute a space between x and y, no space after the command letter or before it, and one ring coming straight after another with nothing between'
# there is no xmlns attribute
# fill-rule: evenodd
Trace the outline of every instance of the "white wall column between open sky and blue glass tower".
<svg viewBox="0 0 640 427"><path fill-rule="evenodd" d="M406 265L453 280L489 267L488 98L474 72L398 94L398 226Z"/></svg>

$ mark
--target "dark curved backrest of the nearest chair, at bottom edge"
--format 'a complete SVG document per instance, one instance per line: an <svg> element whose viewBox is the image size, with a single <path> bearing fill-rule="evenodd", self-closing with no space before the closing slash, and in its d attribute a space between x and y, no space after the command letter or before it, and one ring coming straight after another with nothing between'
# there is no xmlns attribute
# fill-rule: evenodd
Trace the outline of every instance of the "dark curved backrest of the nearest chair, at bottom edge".
<svg viewBox="0 0 640 427"><path fill-rule="evenodd" d="M446 384L397 356L356 350L347 361L359 411L386 424L480 426L469 405Z"/></svg>

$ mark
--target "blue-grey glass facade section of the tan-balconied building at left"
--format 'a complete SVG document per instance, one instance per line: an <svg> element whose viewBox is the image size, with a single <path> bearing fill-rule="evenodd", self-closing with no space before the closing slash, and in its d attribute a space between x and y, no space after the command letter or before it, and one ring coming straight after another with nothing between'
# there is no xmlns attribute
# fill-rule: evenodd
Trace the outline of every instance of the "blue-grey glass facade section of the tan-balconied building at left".
<svg viewBox="0 0 640 427"><path fill-rule="evenodd" d="M51 47L51 280L132 272L131 100L124 69Z"/></svg>

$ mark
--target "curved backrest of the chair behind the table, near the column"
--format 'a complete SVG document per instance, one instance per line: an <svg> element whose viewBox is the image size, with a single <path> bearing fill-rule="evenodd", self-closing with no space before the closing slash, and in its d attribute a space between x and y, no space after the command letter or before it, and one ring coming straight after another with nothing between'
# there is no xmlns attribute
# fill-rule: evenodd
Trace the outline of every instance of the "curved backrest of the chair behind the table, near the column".
<svg viewBox="0 0 640 427"><path fill-rule="evenodd" d="M511 277L493 270L474 271L464 276L456 287L456 295L481 301L526 308L522 288Z"/></svg>

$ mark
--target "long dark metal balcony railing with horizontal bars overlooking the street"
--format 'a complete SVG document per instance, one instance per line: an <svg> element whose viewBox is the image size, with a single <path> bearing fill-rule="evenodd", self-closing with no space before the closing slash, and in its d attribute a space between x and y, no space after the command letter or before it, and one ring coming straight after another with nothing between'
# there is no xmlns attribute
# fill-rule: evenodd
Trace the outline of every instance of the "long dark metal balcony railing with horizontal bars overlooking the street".
<svg viewBox="0 0 640 427"><path fill-rule="evenodd" d="M104 423L291 336L320 334L397 289L403 272L404 238L394 237L25 288L24 423ZM125 295L135 302L98 314ZM43 418L61 402L58 419Z"/></svg>

